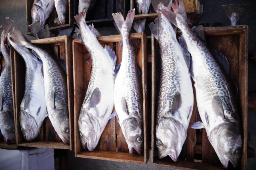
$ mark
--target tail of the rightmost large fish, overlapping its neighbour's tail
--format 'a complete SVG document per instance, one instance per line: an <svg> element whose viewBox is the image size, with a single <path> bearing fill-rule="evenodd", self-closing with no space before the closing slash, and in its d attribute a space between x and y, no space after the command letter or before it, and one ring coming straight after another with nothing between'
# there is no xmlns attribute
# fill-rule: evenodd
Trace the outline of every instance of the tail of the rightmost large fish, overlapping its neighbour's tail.
<svg viewBox="0 0 256 170"><path fill-rule="evenodd" d="M172 3L172 9L174 12L172 12L169 8L164 7L160 8L164 16L168 18L176 27L178 27L176 22L176 14L181 14L184 18L187 20L187 13L186 13L186 7L183 0L175 0L175 4Z"/></svg>

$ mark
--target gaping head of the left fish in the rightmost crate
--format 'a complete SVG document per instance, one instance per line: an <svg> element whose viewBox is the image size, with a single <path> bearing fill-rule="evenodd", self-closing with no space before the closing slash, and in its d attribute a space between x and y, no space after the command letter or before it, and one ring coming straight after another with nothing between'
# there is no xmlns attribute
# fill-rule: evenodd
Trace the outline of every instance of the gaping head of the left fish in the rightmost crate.
<svg viewBox="0 0 256 170"><path fill-rule="evenodd" d="M156 151L159 159L170 156L174 162L182 150L186 129L173 118L162 117L156 126Z"/></svg>

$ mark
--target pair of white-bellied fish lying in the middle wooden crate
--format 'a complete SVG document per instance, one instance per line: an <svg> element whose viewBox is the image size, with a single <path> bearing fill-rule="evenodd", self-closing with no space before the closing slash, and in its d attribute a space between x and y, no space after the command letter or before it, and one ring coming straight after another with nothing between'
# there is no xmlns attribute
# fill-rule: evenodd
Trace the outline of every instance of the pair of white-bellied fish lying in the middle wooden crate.
<svg viewBox="0 0 256 170"><path fill-rule="evenodd" d="M136 61L138 39L130 39L135 9L126 20L121 13L113 14L122 33L120 46L122 63L116 67L116 55L110 47L98 42L93 25L86 25L86 11L75 16L80 27L78 37L92 59L86 96L78 119L80 140L84 149L93 151L107 123L116 115L130 153L143 153L143 96L142 73ZM115 111L112 112L115 106Z"/></svg>

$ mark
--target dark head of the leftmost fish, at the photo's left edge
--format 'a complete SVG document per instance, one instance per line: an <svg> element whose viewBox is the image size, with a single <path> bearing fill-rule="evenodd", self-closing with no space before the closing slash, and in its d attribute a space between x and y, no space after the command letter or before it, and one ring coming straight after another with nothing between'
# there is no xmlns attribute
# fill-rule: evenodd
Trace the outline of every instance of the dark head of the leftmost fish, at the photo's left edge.
<svg viewBox="0 0 256 170"><path fill-rule="evenodd" d="M0 129L7 144L15 142L15 126L13 113L6 111L0 114Z"/></svg>

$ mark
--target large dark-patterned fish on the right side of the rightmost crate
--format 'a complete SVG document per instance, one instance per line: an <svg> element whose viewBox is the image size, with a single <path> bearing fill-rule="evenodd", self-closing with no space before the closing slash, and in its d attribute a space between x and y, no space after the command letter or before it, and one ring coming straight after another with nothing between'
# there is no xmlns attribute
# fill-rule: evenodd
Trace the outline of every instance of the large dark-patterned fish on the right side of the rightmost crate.
<svg viewBox="0 0 256 170"><path fill-rule="evenodd" d="M181 29L183 36L180 37L180 42L192 55L193 69L190 73L195 82L196 101L202 122L198 121L191 127L205 128L222 165L228 168L228 163L231 162L236 168L242 156L242 136L236 101L238 90L237 87L232 88L236 85L228 80L228 61L218 52L210 51L204 41L202 26L193 28L197 34L189 28L184 1L178 0L175 4L172 4L174 12L168 8L161 10Z"/></svg>

